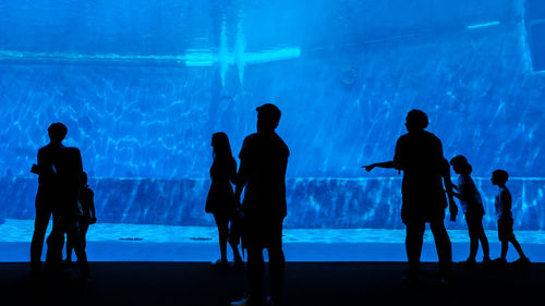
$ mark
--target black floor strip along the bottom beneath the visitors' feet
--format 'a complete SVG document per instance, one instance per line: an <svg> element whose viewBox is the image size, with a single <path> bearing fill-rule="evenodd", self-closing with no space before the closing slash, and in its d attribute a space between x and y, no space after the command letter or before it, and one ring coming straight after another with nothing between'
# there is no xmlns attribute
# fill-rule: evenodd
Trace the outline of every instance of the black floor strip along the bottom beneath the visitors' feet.
<svg viewBox="0 0 545 306"><path fill-rule="evenodd" d="M245 273L208 262L92 262L94 280L28 277L27 264L0 264L0 305L229 305ZM439 284L425 264L417 286L404 283L403 262L288 262L286 305L545 305L545 265L456 268ZM77 269L74 269L74 276ZM268 290L266 289L265 292ZM416 304L417 303L417 304Z"/></svg>

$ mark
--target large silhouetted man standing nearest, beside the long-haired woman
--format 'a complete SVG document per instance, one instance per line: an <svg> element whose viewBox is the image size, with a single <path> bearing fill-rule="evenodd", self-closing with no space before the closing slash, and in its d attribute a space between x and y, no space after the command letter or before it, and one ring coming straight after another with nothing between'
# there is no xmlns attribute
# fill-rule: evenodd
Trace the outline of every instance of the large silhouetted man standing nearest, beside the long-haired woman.
<svg viewBox="0 0 545 306"><path fill-rule="evenodd" d="M286 259L282 222L287 215L286 169L290 151L275 133L280 110L270 103L257 108L257 133L244 139L237 176L237 198L245 187L242 211L242 246L247 249L250 296L231 305L262 305L263 249L269 256L271 296L268 305L281 304Z"/></svg>

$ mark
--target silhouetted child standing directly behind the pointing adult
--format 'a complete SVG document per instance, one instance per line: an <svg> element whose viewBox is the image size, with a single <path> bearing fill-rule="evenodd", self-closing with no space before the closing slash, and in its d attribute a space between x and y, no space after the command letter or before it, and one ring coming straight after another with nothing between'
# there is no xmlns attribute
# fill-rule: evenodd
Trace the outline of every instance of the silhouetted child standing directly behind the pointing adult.
<svg viewBox="0 0 545 306"><path fill-rule="evenodd" d="M458 176L458 186L452 186L457 191L453 192L453 195L460 199L460 205L465 215L465 222L468 223L470 234L470 256L461 264L469 267L475 265L479 241L481 241L481 246L483 247L483 262L488 262L491 260L488 240L486 238L483 228L483 216L485 211L481 194L471 179L471 164L469 164L465 157L461 155L453 157L450 160L450 164L455 172L460 175Z"/></svg>

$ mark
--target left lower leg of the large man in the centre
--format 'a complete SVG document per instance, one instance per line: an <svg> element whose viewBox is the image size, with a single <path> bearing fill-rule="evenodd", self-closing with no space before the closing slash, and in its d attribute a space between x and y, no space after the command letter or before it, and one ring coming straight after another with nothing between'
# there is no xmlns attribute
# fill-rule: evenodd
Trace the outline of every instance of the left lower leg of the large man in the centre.
<svg viewBox="0 0 545 306"><path fill-rule="evenodd" d="M252 245L247 248L247 282L250 289L250 301L254 305L261 305L263 301L263 247Z"/></svg>

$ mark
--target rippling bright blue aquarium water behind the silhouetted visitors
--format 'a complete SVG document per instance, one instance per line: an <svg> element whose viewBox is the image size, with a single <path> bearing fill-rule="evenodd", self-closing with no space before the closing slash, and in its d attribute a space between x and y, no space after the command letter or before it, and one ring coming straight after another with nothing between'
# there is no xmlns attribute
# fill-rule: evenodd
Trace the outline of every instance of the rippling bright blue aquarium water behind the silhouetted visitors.
<svg viewBox="0 0 545 306"><path fill-rule="evenodd" d="M516 231L545 231L540 1L5 0L0 13L0 219L34 218L29 169L60 121L99 220L214 225L210 136L237 156L270 101L291 150L287 229L402 229L400 176L360 166L391 159L420 108L446 157L472 163L486 229L501 168Z"/></svg>

